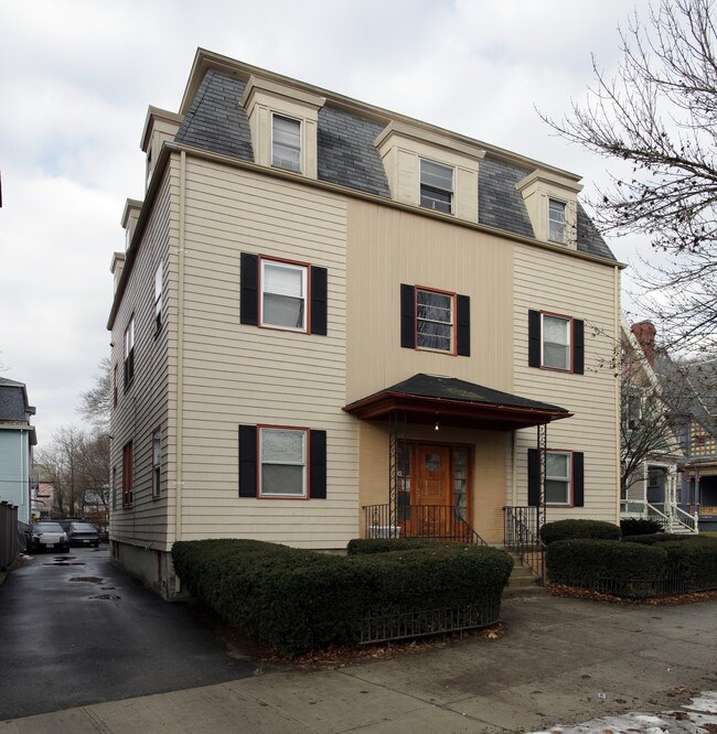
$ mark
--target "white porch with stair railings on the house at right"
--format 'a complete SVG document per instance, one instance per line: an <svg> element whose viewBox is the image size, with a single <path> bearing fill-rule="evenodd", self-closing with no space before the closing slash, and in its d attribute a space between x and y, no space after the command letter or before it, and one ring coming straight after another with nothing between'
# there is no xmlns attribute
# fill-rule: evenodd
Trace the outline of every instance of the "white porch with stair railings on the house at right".
<svg viewBox="0 0 717 734"><path fill-rule="evenodd" d="M640 476L622 490L620 517L652 520L665 532L697 532L695 512L679 501L679 484L676 461L643 462Z"/></svg>

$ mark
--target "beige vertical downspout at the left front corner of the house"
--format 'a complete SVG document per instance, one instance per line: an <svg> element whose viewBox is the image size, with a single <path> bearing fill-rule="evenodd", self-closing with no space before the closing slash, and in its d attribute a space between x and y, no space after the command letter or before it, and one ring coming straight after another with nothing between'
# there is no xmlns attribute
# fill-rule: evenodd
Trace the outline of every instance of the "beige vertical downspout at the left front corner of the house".
<svg viewBox="0 0 717 734"><path fill-rule="evenodd" d="M184 238L185 238L186 153L180 153L179 192L179 249L176 285L176 505L174 508L174 541L182 539L183 430L184 430ZM174 591L179 593L179 578L174 576Z"/></svg>

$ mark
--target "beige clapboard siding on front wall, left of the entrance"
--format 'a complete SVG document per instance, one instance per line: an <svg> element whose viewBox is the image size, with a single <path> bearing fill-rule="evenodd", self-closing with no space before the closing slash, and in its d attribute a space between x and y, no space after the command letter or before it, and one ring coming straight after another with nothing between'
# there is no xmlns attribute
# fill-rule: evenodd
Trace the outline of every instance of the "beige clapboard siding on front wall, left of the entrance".
<svg viewBox="0 0 717 734"><path fill-rule="evenodd" d="M356 429L345 404L345 203L188 159L182 538L235 535L315 548L356 533ZM240 252L328 268L329 335L239 323ZM327 431L328 499L238 497L238 425Z"/></svg>

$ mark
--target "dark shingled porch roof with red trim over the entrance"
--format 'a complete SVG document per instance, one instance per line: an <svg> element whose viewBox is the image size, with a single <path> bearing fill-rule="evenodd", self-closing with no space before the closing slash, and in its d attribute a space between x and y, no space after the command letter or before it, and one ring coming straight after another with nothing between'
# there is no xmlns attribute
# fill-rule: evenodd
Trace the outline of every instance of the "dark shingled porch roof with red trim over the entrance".
<svg viewBox="0 0 717 734"><path fill-rule="evenodd" d="M405 413L413 423L437 423L491 431L544 425L572 413L547 402L439 375L414 375L403 382L344 407L362 420Z"/></svg>

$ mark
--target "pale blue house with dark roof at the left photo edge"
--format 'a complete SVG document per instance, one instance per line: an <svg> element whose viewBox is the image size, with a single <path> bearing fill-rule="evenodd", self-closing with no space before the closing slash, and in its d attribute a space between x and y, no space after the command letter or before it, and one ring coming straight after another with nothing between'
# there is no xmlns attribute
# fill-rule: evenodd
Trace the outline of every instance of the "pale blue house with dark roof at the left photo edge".
<svg viewBox="0 0 717 734"><path fill-rule="evenodd" d="M23 382L0 377L0 501L18 507L18 521L30 522L32 447L38 443L30 419L35 409Z"/></svg>

